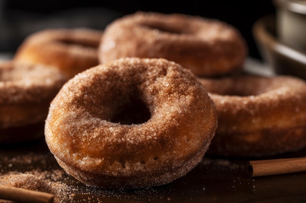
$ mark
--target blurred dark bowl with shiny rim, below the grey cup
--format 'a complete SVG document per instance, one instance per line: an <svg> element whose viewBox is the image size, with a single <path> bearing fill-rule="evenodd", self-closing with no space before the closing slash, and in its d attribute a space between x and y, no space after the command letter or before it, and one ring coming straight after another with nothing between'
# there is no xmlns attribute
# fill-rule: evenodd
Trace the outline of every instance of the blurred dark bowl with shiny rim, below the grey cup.
<svg viewBox="0 0 306 203"><path fill-rule="evenodd" d="M275 74L306 79L306 51L279 39L275 15L258 19L252 32L263 60L272 67Z"/></svg>

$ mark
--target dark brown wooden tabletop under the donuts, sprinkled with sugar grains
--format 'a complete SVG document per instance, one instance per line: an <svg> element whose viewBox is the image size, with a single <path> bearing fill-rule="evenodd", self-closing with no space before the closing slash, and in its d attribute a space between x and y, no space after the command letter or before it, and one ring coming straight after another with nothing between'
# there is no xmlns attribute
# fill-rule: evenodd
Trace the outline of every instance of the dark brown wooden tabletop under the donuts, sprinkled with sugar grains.
<svg viewBox="0 0 306 203"><path fill-rule="evenodd" d="M306 150L273 158L305 156ZM10 173L44 172L50 183L67 188L55 202L69 203L306 203L306 172L250 177L247 159L204 157L174 182L137 190L102 190L78 182L57 164L44 140L0 149L0 180ZM36 171L36 172L34 172ZM61 178L52 177L61 173ZM1 202L1 201L0 201Z"/></svg>

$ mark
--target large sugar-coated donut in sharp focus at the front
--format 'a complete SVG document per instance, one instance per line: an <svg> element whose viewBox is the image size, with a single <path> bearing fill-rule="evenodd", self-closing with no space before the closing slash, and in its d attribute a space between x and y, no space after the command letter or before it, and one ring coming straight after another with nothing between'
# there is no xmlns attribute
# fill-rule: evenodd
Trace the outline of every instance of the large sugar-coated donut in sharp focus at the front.
<svg viewBox="0 0 306 203"><path fill-rule="evenodd" d="M197 77L162 58L120 58L70 79L52 101L45 140L80 182L164 185L194 168L217 128Z"/></svg>

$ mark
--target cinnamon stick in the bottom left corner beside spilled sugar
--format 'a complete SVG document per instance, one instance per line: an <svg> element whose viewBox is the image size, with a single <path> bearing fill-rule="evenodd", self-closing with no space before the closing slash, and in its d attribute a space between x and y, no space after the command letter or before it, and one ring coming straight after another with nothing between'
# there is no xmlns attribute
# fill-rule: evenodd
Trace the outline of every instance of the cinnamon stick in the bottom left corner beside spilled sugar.
<svg viewBox="0 0 306 203"><path fill-rule="evenodd" d="M0 185L0 199L26 203L53 203L54 195L29 189Z"/></svg>

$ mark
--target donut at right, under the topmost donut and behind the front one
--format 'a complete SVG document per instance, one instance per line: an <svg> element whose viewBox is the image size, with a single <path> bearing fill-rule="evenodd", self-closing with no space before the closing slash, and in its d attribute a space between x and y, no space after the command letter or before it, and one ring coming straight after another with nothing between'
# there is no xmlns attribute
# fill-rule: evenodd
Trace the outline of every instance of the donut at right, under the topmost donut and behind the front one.
<svg viewBox="0 0 306 203"><path fill-rule="evenodd" d="M200 78L218 112L207 154L263 157L306 147L306 82L289 75Z"/></svg>

